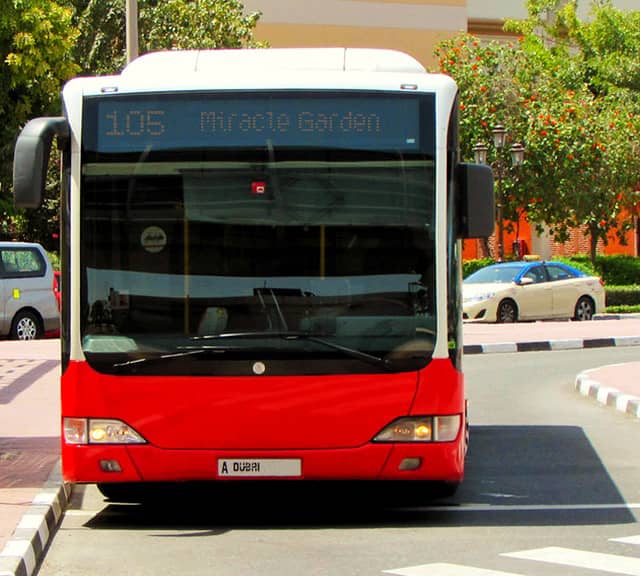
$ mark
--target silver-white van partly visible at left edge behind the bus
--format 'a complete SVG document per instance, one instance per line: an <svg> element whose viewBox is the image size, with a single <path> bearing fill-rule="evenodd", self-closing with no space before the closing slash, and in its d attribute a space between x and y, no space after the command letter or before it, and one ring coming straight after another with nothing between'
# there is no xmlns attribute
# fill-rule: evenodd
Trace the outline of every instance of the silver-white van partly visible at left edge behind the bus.
<svg viewBox="0 0 640 576"><path fill-rule="evenodd" d="M33 340L60 329L51 262L40 244L0 242L0 335Z"/></svg>

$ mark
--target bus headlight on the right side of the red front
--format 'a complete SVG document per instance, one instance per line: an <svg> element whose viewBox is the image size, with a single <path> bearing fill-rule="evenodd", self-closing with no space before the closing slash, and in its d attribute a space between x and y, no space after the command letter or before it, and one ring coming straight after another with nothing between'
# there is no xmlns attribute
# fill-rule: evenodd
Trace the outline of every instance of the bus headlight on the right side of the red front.
<svg viewBox="0 0 640 576"><path fill-rule="evenodd" d="M398 418L373 438L374 442L453 442L460 432L460 414Z"/></svg>

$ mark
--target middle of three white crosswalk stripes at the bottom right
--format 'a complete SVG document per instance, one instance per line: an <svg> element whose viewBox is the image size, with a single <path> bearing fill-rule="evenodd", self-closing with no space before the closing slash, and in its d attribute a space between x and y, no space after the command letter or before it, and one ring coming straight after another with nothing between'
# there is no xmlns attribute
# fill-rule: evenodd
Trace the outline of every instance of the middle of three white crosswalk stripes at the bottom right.
<svg viewBox="0 0 640 576"><path fill-rule="evenodd" d="M589 568L590 570L600 570L612 574L640 576L640 558L629 558L615 554L601 554L599 552L550 546L548 548L510 552L501 554L501 556L546 562L548 564L561 564L562 566Z"/></svg>

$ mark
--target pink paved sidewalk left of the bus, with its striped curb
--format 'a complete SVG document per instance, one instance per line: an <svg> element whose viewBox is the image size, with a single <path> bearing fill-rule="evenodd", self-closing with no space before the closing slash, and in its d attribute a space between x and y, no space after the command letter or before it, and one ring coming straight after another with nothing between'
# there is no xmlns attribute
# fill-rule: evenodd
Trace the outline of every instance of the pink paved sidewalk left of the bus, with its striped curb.
<svg viewBox="0 0 640 576"><path fill-rule="evenodd" d="M59 355L59 340L0 341L0 576L33 574L68 497Z"/></svg>

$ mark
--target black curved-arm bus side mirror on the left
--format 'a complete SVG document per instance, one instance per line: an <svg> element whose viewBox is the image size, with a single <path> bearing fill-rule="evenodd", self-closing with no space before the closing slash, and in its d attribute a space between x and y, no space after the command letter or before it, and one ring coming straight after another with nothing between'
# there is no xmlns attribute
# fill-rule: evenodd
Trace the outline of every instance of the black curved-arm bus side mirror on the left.
<svg viewBox="0 0 640 576"><path fill-rule="evenodd" d="M66 118L35 118L20 132L13 155L13 197L18 208L38 208L42 203L54 136L69 138Z"/></svg>

